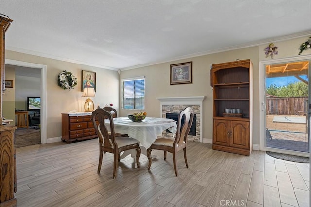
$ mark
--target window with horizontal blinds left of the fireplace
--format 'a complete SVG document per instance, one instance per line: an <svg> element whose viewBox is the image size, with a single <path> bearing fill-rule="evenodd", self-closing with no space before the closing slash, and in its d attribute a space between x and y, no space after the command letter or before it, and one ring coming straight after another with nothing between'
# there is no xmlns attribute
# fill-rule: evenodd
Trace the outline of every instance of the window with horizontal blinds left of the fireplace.
<svg viewBox="0 0 311 207"><path fill-rule="evenodd" d="M122 81L122 108L145 108L145 77L123 79Z"/></svg>

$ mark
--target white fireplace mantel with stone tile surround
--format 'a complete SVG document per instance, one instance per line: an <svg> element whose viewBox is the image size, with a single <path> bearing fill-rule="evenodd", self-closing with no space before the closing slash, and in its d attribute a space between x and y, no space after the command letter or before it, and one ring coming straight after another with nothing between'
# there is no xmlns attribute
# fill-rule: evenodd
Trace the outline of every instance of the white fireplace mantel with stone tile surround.
<svg viewBox="0 0 311 207"><path fill-rule="evenodd" d="M185 105L185 106L193 105L193 106L195 106L194 108L196 108L196 112L197 112L197 114L199 114L199 120L197 119L196 126L199 128L200 134L197 136L199 136L198 137L199 142L203 142L202 141L202 132L203 132L202 130L203 130L203 100L204 100L204 98L205 98L205 96L191 96L191 97L160 97L160 98L156 98L156 99L158 99L160 101L160 117L163 117L165 114L163 112L163 106L180 105L180 106L176 107L177 109L178 109L178 107L182 107L181 105ZM172 107L172 109L173 108L174 107ZM176 108L174 109L174 112L177 112ZM181 110L181 109L179 109L179 110Z"/></svg>

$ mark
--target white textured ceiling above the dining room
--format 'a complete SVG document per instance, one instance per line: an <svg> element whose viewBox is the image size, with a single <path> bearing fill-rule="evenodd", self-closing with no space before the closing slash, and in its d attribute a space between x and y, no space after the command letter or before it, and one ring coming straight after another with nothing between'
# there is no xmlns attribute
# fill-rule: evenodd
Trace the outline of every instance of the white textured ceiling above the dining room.
<svg viewBox="0 0 311 207"><path fill-rule="evenodd" d="M1 0L0 12L6 49L112 70L311 33L309 0Z"/></svg>

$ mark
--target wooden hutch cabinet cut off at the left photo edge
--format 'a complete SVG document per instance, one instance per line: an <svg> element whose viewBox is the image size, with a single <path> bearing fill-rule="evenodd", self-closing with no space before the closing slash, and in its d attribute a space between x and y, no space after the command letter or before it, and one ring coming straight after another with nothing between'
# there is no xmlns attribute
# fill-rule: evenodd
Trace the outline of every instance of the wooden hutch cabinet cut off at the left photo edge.
<svg viewBox="0 0 311 207"><path fill-rule="evenodd" d="M16 182L16 153L14 148L14 133L17 127L15 125L4 124L2 122L2 93L4 90L3 80L5 79L5 32L9 28L12 20L1 17L0 28L0 48L1 48L1 93L0 93L0 134L1 134L1 152L0 152L0 186L1 186L1 207L16 207L17 199L15 192L17 191Z"/></svg>

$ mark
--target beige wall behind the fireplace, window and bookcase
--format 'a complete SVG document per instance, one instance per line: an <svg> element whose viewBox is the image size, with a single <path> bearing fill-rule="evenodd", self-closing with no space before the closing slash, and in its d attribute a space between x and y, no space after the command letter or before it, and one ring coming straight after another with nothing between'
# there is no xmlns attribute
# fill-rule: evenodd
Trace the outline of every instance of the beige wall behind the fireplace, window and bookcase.
<svg viewBox="0 0 311 207"><path fill-rule="evenodd" d="M301 43L308 37L295 38L286 41L274 42L278 48L278 55L274 57L295 57L298 56ZM253 144L259 146L259 60L266 60L264 49L269 43L237 50L209 54L200 57L188 58L168 63L155 64L151 66L121 71L120 78L131 78L145 76L145 111L150 116L159 116L160 103L156 97L181 97L181 96L206 96L203 102L203 138L212 139L212 89L210 87L210 65L225 63L237 59L250 59L253 62ZM302 55L310 55L311 50L306 50ZM269 57L270 58L270 57ZM192 84L170 85L170 64L184 63L192 61ZM121 95L120 95L121 98ZM132 111L122 110L121 116L132 113Z"/></svg>

